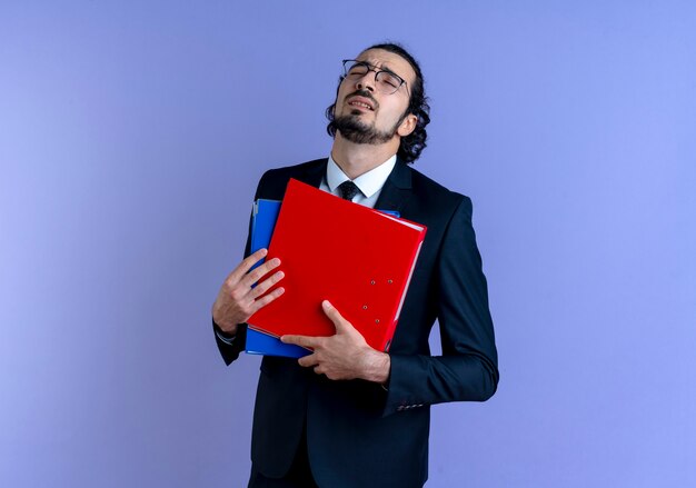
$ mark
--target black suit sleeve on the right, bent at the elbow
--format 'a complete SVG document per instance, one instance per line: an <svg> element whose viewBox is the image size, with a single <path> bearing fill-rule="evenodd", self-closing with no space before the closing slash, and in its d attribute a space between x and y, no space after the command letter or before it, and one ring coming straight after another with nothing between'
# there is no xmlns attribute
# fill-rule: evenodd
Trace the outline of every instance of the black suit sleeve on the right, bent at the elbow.
<svg viewBox="0 0 696 488"><path fill-rule="evenodd" d="M391 355L385 416L446 401L485 401L496 391L493 320L467 197L447 226L436 266L443 356Z"/></svg>

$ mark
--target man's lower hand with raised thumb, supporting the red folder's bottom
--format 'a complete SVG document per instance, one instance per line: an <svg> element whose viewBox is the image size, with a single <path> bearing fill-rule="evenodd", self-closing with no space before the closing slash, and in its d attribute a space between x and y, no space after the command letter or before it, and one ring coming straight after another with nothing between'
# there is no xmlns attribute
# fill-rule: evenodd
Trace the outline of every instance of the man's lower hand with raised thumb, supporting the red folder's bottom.
<svg viewBox="0 0 696 488"><path fill-rule="evenodd" d="M299 359L300 366L314 367L317 375L329 379L365 379L386 384L391 361L389 355L372 349L352 325L341 317L328 300L321 302L324 312L334 322L331 337L282 336L280 340L314 349Z"/></svg>

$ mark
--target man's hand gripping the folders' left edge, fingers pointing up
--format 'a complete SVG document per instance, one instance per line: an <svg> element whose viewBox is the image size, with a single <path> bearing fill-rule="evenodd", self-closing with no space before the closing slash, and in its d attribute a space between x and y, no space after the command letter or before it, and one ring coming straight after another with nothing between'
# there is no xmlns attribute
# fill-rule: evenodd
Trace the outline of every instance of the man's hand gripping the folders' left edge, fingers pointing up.
<svg viewBox="0 0 696 488"><path fill-rule="evenodd" d="M249 272L253 263L264 259L267 253L268 250L259 249L241 261L225 279L218 292L218 298L216 298L215 303L212 303L212 320L215 320L223 332L230 335L237 333L238 323L246 322L253 312L267 306L285 292L285 289L279 287L265 297L259 298L268 291L270 287L282 279L285 276L282 271L275 272L256 287L251 288L255 282L280 266L280 259L274 258Z"/></svg>

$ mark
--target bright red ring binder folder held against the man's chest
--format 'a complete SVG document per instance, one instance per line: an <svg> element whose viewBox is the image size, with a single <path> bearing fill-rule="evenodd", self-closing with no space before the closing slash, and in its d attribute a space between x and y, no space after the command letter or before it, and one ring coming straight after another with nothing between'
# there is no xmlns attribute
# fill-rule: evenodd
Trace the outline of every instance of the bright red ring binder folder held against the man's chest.
<svg viewBox="0 0 696 488"><path fill-rule="evenodd" d="M270 241L285 293L248 320L274 336L332 336L329 300L368 345L388 350L426 228L290 180Z"/></svg>

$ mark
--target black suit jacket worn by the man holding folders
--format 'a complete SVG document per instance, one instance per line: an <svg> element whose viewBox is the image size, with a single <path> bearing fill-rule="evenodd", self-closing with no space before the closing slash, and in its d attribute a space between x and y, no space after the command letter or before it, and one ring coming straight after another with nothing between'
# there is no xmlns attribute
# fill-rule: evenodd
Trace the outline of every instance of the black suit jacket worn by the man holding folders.
<svg viewBox="0 0 696 488"><path fill-rule="evenodd" d="M326 166L320 159L270 170L256 198L282 199L290 178L319 187ZM420 487L428 476L430 405L484 401L496 390L497 352L471 201L397 161L376 208L428 228L389 350L388 390L331 381L296 359L265 357L251 459L266 476L287 472L306 427L319 486ZM428 345L436 319L440 357L431 357ZM232 346L217 340L229 365L243 350L243 329Z"/></svg>

